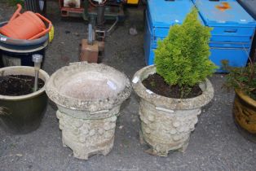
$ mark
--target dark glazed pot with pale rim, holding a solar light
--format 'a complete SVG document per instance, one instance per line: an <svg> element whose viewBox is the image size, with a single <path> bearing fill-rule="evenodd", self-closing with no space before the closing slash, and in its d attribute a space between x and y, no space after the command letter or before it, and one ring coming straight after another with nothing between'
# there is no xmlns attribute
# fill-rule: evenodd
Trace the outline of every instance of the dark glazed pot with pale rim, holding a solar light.
<svg viewBox="0 0 256 171"><path fill-rule="evenodd" d="M15 66L0 69L0 76L8 75L34 76L34 68ZM39 78L46 82L49 75L40 70ZM40 90L27 95L0 94L0 126L13 134L27 134L38 129L46 112L47 101L45 85Z"/></svg>

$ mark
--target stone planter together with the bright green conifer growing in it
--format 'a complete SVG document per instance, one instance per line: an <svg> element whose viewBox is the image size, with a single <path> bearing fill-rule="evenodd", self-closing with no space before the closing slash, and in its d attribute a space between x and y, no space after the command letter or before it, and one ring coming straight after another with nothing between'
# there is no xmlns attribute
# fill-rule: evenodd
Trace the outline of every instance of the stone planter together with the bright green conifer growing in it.
<svg viewBox="0 0 256 171"><path fill-rule="evenodd" d="M201 107L210 103L214 89L206 78L214 72L210 61L210 28L197 20L195 8L181 25L170 28L157 43L155 65L140 69L133 78L139 95L140 140L152 155L185 151Z"/></svg>

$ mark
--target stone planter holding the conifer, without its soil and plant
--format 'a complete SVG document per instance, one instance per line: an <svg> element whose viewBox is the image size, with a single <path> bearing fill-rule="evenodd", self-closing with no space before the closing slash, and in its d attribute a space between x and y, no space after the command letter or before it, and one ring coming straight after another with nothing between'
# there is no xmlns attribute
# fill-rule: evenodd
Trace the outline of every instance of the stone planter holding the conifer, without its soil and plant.
<svg viewBox="0 0 256 171"><path fill-rule="evenodd" d="M142 81L156 72L151 65L140 69L133 78L133 88L139 95L141 120L140 140L150 147L150 153L167 156L169 151L185 151L195 129L201 107L214 97L214 89L206 79L200 87L203 94L192 99L170 99L147 90Z"/></svg>

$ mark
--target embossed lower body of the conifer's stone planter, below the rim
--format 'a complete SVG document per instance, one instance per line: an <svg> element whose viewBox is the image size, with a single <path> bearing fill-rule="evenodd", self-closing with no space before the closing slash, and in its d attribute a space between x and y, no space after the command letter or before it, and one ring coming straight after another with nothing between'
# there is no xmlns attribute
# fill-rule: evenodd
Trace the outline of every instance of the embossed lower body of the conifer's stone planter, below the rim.
<svg viewBox="0 0 256 171"><path fill-rule="evenodd" d="M195 109L170 114L159 111L152 104L141 100L140 142L151 147L146 152L153 156L168 156L169 151L175 150L184 152L188 147L190 133L195 128L197 115L200 113L201 109Z"/></svg>

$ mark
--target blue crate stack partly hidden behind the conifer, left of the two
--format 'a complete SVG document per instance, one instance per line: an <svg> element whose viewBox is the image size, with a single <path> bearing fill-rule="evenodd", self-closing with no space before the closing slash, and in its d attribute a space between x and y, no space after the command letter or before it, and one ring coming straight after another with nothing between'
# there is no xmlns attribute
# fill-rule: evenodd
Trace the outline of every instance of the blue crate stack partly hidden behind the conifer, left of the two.
<svg viewBox="0 0 256 171"><path fill-rule="evenodd" d="M154 61L153 50L157 48L157 40L168 35L170 26L182 24L194 5L191 0L148 0L147 4L144 51L146 64L151 65Z"/></svg>

